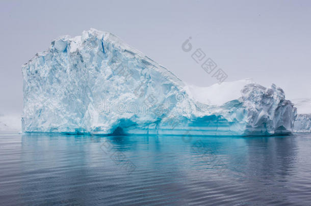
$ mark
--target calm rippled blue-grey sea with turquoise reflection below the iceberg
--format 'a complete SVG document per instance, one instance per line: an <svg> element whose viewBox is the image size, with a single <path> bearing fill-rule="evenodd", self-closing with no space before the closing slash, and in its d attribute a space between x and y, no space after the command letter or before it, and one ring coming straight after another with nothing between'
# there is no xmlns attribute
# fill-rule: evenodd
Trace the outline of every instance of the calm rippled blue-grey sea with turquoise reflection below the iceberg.
<svg viewBox="0 0 311 206"><path fill-rule="evenodd" d="M0 205L311 205L311 135L2 132Z"/></svg>

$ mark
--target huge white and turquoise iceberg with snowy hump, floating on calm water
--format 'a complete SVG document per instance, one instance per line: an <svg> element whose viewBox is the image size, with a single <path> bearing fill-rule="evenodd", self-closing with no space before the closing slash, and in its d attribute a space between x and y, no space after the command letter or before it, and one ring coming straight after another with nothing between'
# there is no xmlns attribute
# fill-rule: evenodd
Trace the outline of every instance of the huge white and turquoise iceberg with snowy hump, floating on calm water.
<svg viewBox="0 0 311 206"><path fill-rule="evenodd" d="M296 116L274 84L246 79L196 91L94 29L54 40L22 74L25 133L271 135L290 133Z"/></svg>

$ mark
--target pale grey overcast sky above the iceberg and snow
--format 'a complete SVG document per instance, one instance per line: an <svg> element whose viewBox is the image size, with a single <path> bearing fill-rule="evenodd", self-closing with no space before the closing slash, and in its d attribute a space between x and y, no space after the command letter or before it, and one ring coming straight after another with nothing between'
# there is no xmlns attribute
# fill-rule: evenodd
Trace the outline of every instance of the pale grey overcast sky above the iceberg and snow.
<svg viewBox="0 0 311 206"><path fill-rule="evenodd" d="M77 3L80 2L80 3ZM0 113L22 109L21 65L51 40L111 32L185 82L216 79L182 50L189 38L228 75L311 97L311 1L0 2Z"/></svg>

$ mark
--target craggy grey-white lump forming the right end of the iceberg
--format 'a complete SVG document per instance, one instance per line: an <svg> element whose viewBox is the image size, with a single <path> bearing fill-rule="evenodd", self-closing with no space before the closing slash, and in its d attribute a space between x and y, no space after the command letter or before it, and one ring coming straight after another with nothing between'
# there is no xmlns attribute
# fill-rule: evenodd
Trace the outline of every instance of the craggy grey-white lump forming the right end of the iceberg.
<svg viewBox="0 0 311 206"><path fill-rule="evenodd" d="M247 132L250 134L292 131L297 110L285 99L282 89L272 84L270 89L248 84L242 90L243 106L247 110Z"/></svg>

